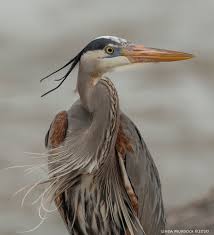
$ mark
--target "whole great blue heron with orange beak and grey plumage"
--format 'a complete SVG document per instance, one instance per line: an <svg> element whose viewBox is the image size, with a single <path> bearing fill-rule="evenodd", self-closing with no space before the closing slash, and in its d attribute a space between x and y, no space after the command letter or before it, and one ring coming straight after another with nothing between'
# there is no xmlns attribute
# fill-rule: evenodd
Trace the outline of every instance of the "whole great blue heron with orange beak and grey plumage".
<svg viewBox="0 0 214 235"><path fill-rule="evenodd" d="M103 75L124 65L190 58L102 36L54 72L70 65L58 88L79 63L80 99L56 115L45 140L54 200L70 234L164 233L157 168L139 130L120 110L113 83Z"/></svg>

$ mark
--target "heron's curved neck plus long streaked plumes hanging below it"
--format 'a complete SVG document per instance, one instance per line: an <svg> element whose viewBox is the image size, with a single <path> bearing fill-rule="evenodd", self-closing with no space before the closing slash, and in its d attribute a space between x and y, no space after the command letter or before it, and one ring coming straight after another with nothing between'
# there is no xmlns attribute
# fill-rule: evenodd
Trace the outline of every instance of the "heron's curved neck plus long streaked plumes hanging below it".
<svg viewBox="0 0 214 235"><path fill-rule="evenodd" d="M94 80L97 81L96 85ZM92 122L86 131L89 155L95 156L90 172L94 169L97 187L106 203L105 211L117 227L128 228L133 233L132 224L137 224L130 199L119 174L118 159L115 155L115 142L119 128L119 99L113 83L108 78L91 77L79 70L78 91L83 106L92 115ZM93 147L92 147L93 146ZM93 151L95 155L91 154ZM130 206L127 206L130 205ZM105 217L107 218L107 217ZM120 221L124 221L121 224Z"/></svg>

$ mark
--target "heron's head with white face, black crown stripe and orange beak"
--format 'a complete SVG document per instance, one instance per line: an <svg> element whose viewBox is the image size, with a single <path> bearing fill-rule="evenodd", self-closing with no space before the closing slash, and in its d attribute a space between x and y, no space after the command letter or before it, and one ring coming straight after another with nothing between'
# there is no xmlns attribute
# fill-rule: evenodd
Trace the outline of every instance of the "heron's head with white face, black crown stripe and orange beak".
<svg viewBox="0 0 214 235"><path fill-rule="evenodd" d="M83 49L80 66L89 73L103 74L124 65L171 62L192 57L184 52L148 48L115 36L102 36Z"/></svg>

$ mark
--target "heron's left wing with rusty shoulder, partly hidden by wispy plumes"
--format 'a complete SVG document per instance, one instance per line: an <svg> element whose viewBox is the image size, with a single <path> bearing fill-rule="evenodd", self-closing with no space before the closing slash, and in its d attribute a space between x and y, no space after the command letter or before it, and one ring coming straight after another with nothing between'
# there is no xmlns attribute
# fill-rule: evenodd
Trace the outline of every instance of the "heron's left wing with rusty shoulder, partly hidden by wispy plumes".
<svg viewBox="0 0 214 235"><path fill-rule="evenodd" d="M59 112L52 121L49 130L45 136L45 146L48 149L57 148L63 144L68 132L77 129L84 129L90 125L91 117L88 112L82 107L80 100L77 100L68 111ZM70 231L73 226L71 218L73 215L73 208L68 202L66 191L59 194L55 198L55 204Z"/></svg>

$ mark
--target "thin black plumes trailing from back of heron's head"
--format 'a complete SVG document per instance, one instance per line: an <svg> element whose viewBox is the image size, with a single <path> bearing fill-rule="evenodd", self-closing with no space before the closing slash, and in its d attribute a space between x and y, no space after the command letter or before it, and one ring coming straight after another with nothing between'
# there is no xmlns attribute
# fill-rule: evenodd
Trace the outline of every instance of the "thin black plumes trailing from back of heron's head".
<svg viewBox="0 0 214 235"><path fill-rule="evenodd" d="M68 69L67 73L59 78L59 79L55 79L55 81L61 81L56 87L54 87L53 89L45 92L44 94L41 95L41 97L44 97L45 95L51 93L52 91L55 91L56 89L58 89L63 82L66 80L66 78L68 77L68 75L72 72L72 70L74 69L74 67L78 64L78 62L80 61L80 57L82 55L83 51L81 51L77 56L75 56L73 59L71 59L68 63L66 63L64 66L62 66L61 68L57 69L56 71L54 71L53 73L45 76L44 78L40 79L40 82L44 81L46 78L49 78L50 76L52 76L53 74L59 72L60 70L66 68L67 66L71 65L71 67Z"/></svg>

